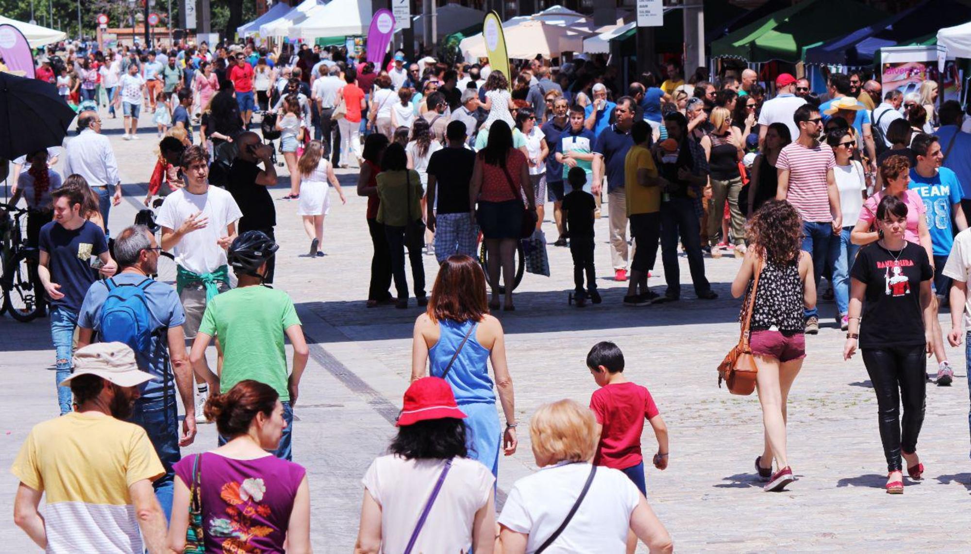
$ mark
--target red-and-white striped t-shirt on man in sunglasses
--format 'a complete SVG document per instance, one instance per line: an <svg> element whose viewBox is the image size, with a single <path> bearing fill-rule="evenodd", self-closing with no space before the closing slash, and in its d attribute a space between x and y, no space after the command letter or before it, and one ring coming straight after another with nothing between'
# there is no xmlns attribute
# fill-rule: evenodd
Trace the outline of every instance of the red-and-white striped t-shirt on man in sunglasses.
<svg viewBox="0 0 971 554"><path fill-rule="evenodd" d="M834 167L836 158L828 145L807 148L791 143L779 152L776 168L789 171L786 200L804 221L826 223L833 220L829 211L826 172Z"/></svg>

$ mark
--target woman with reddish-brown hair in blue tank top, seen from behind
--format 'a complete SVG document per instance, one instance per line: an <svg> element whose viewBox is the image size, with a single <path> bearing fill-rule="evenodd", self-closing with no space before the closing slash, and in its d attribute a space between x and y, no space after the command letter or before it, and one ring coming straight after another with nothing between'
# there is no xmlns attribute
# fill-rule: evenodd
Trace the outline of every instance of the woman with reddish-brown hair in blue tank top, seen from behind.
<svg viewBox="0 0 971 554"><path fill-rule="evenodd" d="M506 415L505 430L496 412L488 360ZM488 313L485 275L469 256L452 255L442 263L428 310L415 322L412 380L426 375L443 377L452 385L455 402L468 416L464 422L469 457L498 475L500 446L507 456L517 446L513 379L506 366L502 325Z"/></svg>

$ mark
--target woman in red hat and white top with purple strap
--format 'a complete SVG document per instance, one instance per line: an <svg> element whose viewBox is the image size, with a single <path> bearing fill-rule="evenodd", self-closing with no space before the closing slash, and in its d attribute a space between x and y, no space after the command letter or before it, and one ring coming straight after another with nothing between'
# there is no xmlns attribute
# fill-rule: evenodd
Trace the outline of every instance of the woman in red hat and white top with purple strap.
<svg viewBox="0 0 971 554"><path fill-rule="evenodd" d="M495 477L467 458L463 418L444 379L408 387L390 453L362 479L354 552L493 551Z"/></svg>

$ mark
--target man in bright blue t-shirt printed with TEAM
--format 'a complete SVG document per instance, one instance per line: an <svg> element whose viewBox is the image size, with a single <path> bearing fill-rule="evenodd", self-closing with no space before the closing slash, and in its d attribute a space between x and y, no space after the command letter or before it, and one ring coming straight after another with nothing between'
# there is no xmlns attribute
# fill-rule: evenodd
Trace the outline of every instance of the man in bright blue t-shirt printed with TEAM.
<svg viewBox="0 0 971 554"><path fill-rule="evenodd" d="M937 298L933 303L935 317L932 345L938 364L937 384L949 385L954 378L954 372L948 363L948 354L944 349L944 338L936 315L940 299L948 298L948 289L951 287L951 278L945 277L943 272L948 262L948 254L954 245L952 213L958 231L967 229L968 224L961 210L961 187L957 176L950 169L941 167L944 152L937 137L920 133L911 142L911 149L917 157L917 165L911 169L909 188L921 195L923 200L934 253L934 289Z"/></svg>

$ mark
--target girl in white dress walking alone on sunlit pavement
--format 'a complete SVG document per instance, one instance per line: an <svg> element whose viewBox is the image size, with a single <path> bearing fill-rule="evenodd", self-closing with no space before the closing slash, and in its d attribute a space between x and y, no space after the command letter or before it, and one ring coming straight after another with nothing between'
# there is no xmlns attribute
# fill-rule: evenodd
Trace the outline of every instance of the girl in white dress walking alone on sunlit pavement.
<svg viewBox="0 0 971 554"><path fill-rule="evenodd" d="M300 204L297 214L303 216L304 230L311 238L310 255L322 256L318 250L323 241L323 216L330 212L330 190L327 182L337 189L337 196L342 204L347 204L341 183L334 176L334 166L330 165L323 155L323 145L320 141L311 141L304 149L304 154L297 162L300 170Z"/></svg>

